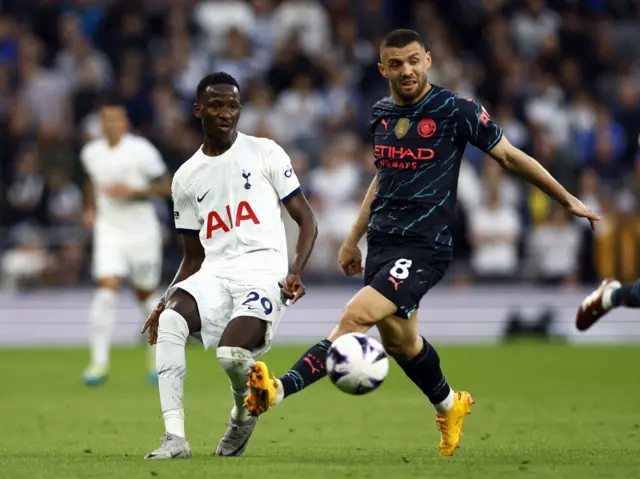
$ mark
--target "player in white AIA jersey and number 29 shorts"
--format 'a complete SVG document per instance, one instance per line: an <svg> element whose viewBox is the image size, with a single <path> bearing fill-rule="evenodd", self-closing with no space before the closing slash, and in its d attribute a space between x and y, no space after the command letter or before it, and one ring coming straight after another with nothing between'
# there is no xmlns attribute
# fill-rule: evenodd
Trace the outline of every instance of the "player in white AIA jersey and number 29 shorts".
<svg viewBox="0 0 640 479"><path fill-rule="evenodd" d="M165 434L145 459L191 456L183 391L189 335L217 348L229 376L233 409L216 455L239 456L257 418L244 405L248 372L267 351L285 310L303 294L300 281L317 236L316 220L291 160L275 142L236 131L241 103L236 80L203 78L194 112L204 143L173 178L175 225L184 256L176 277L142 332L157 343L156 363ZM299 226L288 267L281 203Z"/></svg>

